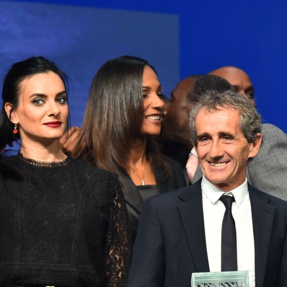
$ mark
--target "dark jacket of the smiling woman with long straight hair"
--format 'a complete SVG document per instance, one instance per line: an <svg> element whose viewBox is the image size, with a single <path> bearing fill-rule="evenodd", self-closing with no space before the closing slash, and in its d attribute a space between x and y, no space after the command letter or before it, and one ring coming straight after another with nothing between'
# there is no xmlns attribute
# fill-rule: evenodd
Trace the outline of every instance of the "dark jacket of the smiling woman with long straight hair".
<svg viewBox="0 0 287 287"><path fill-rule="evenodd" d="M167 156L163 156L163 158L171 166L171 175L168 178L163 178L162 168L158 167L153 170L158 193L160 194L166 191L173 191L186 187L187 184L180 163ZM130 227L129 230L131 231L133 244L137 236L138 223L144 201L140 192L138 191L137 186L134 184L131 178L124 173L122 173L120 176L126 187L123 188L123 192L127 203Z"/></svg>

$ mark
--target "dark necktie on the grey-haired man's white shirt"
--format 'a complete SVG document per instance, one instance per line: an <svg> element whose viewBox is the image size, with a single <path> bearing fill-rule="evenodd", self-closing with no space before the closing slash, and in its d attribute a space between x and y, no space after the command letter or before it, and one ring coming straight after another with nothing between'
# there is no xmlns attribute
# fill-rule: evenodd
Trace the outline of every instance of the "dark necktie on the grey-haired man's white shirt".
<svg viewBox="0 0 287 287"><path fill-rule="evenodd" d="M221 232L221 271L237 271L237 244L235 221L231 206L234 196L222 195L219 198L225 205Z"/></svg>

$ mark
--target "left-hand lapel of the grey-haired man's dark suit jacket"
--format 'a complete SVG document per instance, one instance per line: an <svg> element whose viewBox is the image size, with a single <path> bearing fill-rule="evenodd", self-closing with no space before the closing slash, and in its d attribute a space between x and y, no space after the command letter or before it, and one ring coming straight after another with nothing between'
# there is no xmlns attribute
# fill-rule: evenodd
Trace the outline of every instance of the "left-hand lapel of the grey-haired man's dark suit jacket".
<svg viewBox="0 0 287 287"><path fill-rule="evenodd" d="M201 180L188 192L179 196L184 202L178 204L184 231L197 272L209 272L204 231Z"/></svg>

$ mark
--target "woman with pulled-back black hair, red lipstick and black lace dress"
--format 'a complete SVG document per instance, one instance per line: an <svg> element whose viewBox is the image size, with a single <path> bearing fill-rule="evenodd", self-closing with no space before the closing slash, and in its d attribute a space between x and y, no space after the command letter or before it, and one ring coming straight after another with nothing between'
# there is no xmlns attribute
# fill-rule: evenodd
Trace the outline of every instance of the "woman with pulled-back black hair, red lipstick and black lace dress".
<svg viewBox="0 0 287 287"><path fill-rule="evenodd" d="M2 90L0 286L125 286L127 213L117 176L67 157L65 75L44 57L15 63Z"/></svg>

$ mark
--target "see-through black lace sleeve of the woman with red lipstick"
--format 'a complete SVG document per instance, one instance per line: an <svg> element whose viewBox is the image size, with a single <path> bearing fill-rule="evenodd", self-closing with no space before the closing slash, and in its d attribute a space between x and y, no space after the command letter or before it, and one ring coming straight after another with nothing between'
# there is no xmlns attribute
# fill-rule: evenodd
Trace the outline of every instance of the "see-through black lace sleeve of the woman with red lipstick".
<svg viewBox="0 0 287 287"><path fill-rule="evenodd" d="M113 201L110 206L106 240L106 276L108 287L125 287L131 264L128 236L128 215L124 195L118 181L113 181Z"/></svg>

